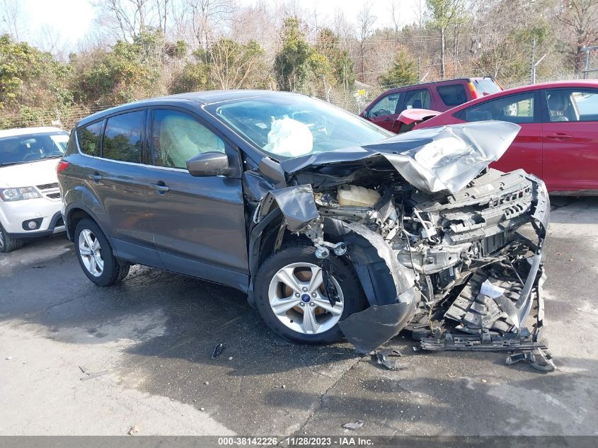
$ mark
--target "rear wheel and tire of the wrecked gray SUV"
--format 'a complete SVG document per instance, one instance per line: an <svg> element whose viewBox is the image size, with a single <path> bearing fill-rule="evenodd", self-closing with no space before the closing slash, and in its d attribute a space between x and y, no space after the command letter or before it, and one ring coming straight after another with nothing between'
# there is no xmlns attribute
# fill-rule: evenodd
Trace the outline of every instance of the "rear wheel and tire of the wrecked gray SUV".
<svg viewBox="0 0 598 448"><path fill-rule="evenodd" d="M112 247L98 224L91 219L81 219L74 237L79 265L89 280L98 286L108 286L127 277L129 263L114 257Z"/></svg>

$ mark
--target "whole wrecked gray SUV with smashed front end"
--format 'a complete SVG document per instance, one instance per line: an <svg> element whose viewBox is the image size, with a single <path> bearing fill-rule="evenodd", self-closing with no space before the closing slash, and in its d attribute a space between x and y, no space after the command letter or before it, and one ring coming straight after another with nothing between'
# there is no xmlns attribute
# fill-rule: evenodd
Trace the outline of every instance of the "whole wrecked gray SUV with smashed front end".
<svg viewBox="0 0 598 448"><path fill-rule="evenodd" d="M518 131L393 136L293 93L185 93L84 118L58 176L96 285L139 263L241 289L299 343L369 352L407 328L428 350L527 356L544 349L548 195L488 168Z"/></svg>

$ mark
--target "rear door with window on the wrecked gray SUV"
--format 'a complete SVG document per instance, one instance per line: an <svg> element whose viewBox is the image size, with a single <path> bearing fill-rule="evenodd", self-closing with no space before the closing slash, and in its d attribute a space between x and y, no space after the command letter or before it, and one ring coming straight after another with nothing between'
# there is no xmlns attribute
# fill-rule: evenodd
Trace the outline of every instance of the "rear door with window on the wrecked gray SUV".
<svg viewBox="0 0 598 448"><path fill-rule="evenodd" d="M146 162L146 109L108 117L103 122L99 157L86 163L86 183L93 195L86 206L97 217L119 258L161 268L154 248L146 193L153 168ZM91 155L92 139L79 136Z"/></svg>

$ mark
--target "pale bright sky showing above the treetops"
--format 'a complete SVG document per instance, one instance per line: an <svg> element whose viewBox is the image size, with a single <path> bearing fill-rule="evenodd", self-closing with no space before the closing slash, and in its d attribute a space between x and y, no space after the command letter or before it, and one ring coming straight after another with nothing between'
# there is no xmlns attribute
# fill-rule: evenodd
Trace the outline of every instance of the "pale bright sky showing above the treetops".
<svg viewBox="0 0 598 448"><path fill-rule="evenodd" d="M268 0L272 4L276 0ZM301 0L303 8L316 9L323 21L332 19L335 11L343 11L345 18L355 21L357 14L366 0ZM412 23L416 17L416 8L423 0L396 0L400 8L401 23ZM251 0L240 0L240 4L250 5ZM371 0L372 13L376 16L376 25L391 26L390 0ZM48 28L57 30L65 46L74 48L93 28L96 11L88 0L20 0L19 1L25 33L19 36L33 45L39 45Z"/></svg>

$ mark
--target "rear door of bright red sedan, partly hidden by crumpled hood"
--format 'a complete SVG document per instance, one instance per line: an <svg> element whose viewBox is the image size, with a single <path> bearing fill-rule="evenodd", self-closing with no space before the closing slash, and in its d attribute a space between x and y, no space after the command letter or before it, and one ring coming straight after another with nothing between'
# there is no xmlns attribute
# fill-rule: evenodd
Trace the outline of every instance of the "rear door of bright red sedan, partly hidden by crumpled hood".
<svg viewBox="0 0 598 448"><path fill-rule="evenodd" d="M490 166L500 171L523 168L527 173L542 177L542 125L539 91L501 96L466 108L459 113L468 122L502 120L517 123L521 130L507 152Z"/></svg>

